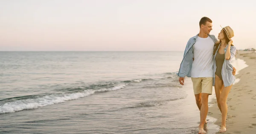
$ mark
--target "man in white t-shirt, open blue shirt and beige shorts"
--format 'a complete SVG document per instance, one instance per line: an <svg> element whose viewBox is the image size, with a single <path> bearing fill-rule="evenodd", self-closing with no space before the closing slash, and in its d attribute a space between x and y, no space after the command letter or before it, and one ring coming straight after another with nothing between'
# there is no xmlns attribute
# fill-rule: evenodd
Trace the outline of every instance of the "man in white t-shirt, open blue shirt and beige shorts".
<svg viewBox="0 0 256 134"><path fill-rule="evenodd" d="M212 30L212 20L202 17L200 31L187 42L183 60L177 75L180 77L181 85L184 85L184 77L191 77L196 104L200 110L200 124L198 134L206 134L204 123L207 123L208 97L212 94L213 82L213 50L218 41L214 35L210 35ZM233 68L233 74L236 69Z"/></svg>

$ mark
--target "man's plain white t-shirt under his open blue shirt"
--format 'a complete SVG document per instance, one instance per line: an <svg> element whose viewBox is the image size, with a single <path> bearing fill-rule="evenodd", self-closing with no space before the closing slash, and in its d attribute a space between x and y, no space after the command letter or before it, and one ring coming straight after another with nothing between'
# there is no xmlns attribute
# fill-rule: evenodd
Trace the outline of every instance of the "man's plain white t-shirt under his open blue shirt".
<svg viewBox="0 0 256 134"><path fill-rule="evenodd" d="M193 46L192 78L213 77L213 47L214 42L209 36L197 37Z"/></svg>

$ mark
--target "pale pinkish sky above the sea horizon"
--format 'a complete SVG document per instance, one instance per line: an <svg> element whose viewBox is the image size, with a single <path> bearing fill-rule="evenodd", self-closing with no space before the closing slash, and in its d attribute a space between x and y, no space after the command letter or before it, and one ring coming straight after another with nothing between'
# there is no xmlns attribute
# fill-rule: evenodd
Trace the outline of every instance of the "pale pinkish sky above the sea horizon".
<svg viewBox="0 0 256 134"><path fill-rule="evenodd" d="M253 0L0 0L0 51L184 51L201 17L256 45Z"/></svg>

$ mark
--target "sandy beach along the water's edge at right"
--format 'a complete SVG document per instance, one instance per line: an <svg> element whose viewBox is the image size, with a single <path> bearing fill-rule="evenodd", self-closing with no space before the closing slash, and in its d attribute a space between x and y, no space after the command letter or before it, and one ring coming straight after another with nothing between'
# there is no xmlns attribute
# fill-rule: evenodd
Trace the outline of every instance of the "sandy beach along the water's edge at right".
<svg viewBox="0 0 256 134"><path fill-rule="evenodd" d="M240 80L228 96L227 131L224 134L256 134L256 53L238 51L236 58L244 60L248 66L236 74ZM216 99L212 103L208 115L217 118L215 124L221 125Z"/></svg>

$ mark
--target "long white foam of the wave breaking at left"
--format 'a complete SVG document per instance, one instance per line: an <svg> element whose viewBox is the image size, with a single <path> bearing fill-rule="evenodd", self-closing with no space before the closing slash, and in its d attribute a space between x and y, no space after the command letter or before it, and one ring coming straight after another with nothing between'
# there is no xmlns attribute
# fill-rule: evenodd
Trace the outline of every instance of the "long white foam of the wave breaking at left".
<svg viewBox="0 0 256 134"><path fill-rule="evenodd" d="M17 100L10 103L5 103L0 106L0 114L3 113L12 113L16 111L21 111L25 109L34 109L43 107L46 105L52 105L56 103L63 103L67 100L75 100L81 97L86 97L88 95L94 94L95 92L100 91L113 91L124 88L125 85L115 86L113 88L102 88L99 90L84 90L84 92L77 92L72 94L52 94L47 95L38 99L26 99L26 100Z"/></svg>

